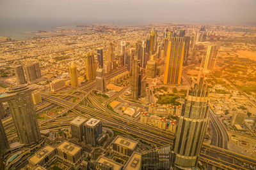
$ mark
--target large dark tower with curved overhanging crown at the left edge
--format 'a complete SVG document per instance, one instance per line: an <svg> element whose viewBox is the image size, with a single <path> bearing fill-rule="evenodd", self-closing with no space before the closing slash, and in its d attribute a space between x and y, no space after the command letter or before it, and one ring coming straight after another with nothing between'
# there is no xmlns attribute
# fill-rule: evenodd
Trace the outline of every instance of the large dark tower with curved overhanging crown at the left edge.
<svg viewBox="0 0 256 170"><path fill-rule="evenodd" d="M36 113L31 97L31 91L26 85L18 85L6 89L6 94L0 97L0 103L8 101L20 143L29 145L41 138Z"/></svg>

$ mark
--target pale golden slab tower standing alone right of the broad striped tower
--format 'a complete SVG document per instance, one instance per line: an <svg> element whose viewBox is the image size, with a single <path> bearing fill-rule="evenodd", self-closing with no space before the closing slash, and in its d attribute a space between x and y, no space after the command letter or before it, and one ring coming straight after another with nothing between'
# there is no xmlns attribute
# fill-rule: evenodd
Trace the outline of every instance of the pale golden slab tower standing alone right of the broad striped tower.
<svg viewBox="0 0 256 170"><path fill-rule="evenodd" d="M215 64L216 64L216 56L218 53L218 46L217 45L209 45L207 48L207 53L205 56L205 62L204 64L204 69L214 69Z"/></svg>

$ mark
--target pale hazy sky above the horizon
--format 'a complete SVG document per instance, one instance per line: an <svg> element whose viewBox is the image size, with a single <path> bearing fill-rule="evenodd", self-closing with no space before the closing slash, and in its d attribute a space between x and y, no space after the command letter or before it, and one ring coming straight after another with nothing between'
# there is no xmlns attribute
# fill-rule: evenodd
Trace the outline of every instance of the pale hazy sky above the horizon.
<svg viewBox="0 0 256 170"><path fill-rule="evenodd" d="M256 0L0 0L0 18L241 22L256 20Z"/></svg>

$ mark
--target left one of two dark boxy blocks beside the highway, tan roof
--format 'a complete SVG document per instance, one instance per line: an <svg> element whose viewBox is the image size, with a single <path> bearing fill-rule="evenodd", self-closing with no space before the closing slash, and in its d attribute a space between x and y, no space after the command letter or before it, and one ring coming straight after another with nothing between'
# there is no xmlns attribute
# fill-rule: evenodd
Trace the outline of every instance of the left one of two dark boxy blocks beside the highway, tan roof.
<svg viewBox="0 0 256 170"><path fill-rule="evenodd" d="M81 117L76 117L70 122L70 131L72 138L76 138L78 141L83 141L84 129L83 125L86 119Z"/></svg>

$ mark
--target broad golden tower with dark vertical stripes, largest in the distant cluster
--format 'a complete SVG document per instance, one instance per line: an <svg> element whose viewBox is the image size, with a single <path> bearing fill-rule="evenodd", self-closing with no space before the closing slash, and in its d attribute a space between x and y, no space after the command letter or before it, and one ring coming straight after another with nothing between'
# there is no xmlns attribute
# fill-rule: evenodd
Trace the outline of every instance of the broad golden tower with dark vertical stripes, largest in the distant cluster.
<svg viewBox="0 0 256 170"><path fill-rule="evenodd" d="M185 43L183 38L171 38L166 54L164 84L180 84Z"/></svg>

